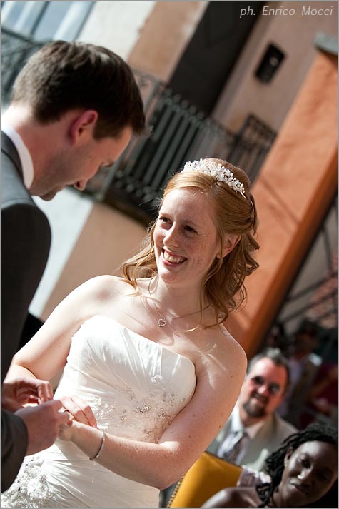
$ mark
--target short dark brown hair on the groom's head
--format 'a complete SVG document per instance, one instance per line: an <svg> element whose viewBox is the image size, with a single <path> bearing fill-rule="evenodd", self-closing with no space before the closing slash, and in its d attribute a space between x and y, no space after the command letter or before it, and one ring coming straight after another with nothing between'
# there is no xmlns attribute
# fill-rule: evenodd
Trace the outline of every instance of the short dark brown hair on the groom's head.
<svg viewBox="0 0 339 509"><path fill-rule="evenodd" d="M71 109L98 111L95 138L118 136L127 126L145 129L143 101L131 68L109 49L54 41L27 61L14 83L11 102L29 104L41 124Z"/></svg>

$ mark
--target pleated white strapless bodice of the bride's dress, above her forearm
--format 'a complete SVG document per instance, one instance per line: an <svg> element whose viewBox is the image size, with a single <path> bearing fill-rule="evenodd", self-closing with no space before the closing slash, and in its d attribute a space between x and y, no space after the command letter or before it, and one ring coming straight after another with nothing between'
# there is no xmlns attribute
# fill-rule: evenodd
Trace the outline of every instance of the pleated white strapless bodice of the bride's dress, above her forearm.
<svg viewBox="0 0 339 509"><path fill-rule="evenodd" d="M91 405L99 428L156 442L191 398L195 385L194 365L188 358L112 318L93 316L72 338L56 398L76 390Z"/></svg>

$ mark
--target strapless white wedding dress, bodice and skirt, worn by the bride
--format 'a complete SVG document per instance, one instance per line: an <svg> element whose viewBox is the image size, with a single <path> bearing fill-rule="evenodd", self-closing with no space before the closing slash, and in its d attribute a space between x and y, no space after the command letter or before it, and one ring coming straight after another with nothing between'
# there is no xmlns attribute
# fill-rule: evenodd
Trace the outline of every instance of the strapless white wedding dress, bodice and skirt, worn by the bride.
<svg viewBox="0 0 339 509"><path fill-rule="evenodd" d="M196 387L193 363L106 316L86 320L71 341L58 394L78 395L98 428L156 443ZM168 468L170 465L168 465ZM26 456L2 507L158 507L159 491L88 460L56 440Z"/></svg>

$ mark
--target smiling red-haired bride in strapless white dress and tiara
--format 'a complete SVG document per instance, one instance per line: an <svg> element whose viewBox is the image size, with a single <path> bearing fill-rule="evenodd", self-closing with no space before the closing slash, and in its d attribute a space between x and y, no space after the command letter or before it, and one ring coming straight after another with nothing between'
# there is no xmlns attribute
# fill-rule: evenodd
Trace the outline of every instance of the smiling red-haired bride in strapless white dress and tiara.
<svg viewBox="0 0 339 509"><path fill-rule="evenodd" d="M123 278L76 288L14 357L7 379L51 380L71 414L26 457L5 507L157 507L221 429L246 371L223 326L258 268L249 181L218 159L168 182Z"/></svg>

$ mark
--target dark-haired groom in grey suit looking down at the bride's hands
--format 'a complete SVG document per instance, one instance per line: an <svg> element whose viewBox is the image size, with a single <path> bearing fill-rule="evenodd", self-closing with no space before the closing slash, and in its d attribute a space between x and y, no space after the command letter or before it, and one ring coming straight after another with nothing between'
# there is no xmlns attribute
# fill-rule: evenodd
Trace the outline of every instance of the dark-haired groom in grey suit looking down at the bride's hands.
<svg viewBox="0 0 339 509"><path fill-rule="evenodd" d="M49 221L31 196L50 200L67 185L83 190L144 128L131 69L101 46L54 41L17 76L1 127L2 381L49 256ZM34 412L23 408L29 395L52 397L44 381L25 384L24 378L6 380L2 388L2 491L13 483L24 455L49 447L68 420L58 411L59 401Z"/></svg>

